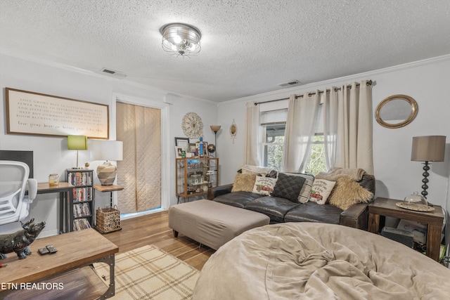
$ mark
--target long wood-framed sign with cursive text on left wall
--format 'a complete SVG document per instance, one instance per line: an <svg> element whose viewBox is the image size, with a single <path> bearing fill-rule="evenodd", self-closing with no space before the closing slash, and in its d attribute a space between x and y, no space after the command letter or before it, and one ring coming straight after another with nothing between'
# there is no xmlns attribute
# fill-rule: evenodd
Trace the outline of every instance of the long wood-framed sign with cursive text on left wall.
<svg viewBox="0 0 450 300"><path fill-rule="evenodd" d="M8 133L109 138L108 105L6 88Z"/></svg>

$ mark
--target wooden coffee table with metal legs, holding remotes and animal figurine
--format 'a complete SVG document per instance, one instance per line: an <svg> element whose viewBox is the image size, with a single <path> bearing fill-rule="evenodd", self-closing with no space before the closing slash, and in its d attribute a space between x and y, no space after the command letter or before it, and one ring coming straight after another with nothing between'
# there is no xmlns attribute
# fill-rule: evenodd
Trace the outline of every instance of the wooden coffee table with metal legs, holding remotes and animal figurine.
<svg viewBox="0 0 450 300"><path fill-rule="evenodd" d="M49 244L53 244L58 252L46 255L40 255L37 252L39 248L44 248ZM108 263L110 266L109 287L101 295L101 298L114 296L115 253L119 252L119 247L93 228L37 239L28 248L32 254L26 259L19 260L15 253L10 253L7 254L7 259L0 260L0 263L7 264L6 267L0 268L1 299L4 299L5 295L9 293L32 292L28 289L17 292L11 290L14 286L20 289L21 283L24 287L23 282L37 282L38 280L40 282L58 282L58 280L54 280L56 275L96 262ZM77 272L77 270L73 272Z"/></svg>

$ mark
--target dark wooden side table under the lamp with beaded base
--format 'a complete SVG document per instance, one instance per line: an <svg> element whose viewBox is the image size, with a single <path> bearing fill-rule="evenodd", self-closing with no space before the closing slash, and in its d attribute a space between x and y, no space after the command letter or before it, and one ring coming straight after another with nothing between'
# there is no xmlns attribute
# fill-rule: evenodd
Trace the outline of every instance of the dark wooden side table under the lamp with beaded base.
<svg viewBox="0 0 450 300"><path fill-rule="evenodd" d="M397 202L401 202L401 200L378 197L369 204L368 231L380 233L380 228L383 228L385 225L385 216L428 224L426 254L435 261L439 261L441 232L444 223L442 208L439 205L435 205L434 211L413 211L397 207Z"/></svg>

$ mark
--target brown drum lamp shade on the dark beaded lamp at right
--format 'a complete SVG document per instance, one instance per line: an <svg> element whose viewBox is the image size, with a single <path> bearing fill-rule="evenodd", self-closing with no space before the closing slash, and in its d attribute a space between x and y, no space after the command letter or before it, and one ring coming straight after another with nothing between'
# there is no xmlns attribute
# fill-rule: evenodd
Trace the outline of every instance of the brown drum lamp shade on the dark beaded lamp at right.
<svg viewBox="0 0 450 300"><path fill-rule="evenodd" d="M446 136L415 136L411 160L418 162L443 162Z"/></svg>

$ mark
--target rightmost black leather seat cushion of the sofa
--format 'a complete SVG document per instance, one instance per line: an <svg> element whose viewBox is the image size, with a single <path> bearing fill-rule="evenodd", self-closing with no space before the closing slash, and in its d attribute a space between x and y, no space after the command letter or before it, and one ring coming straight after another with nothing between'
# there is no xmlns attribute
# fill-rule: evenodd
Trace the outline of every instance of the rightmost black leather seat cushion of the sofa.
<svg viewBox="0 0 450 300"><path fill-rule="evenodd" d="M339 224L342 209L333 205L319 205L314 202L299 204L290 209L285 216L285 222L320 222Z"/></svg>

